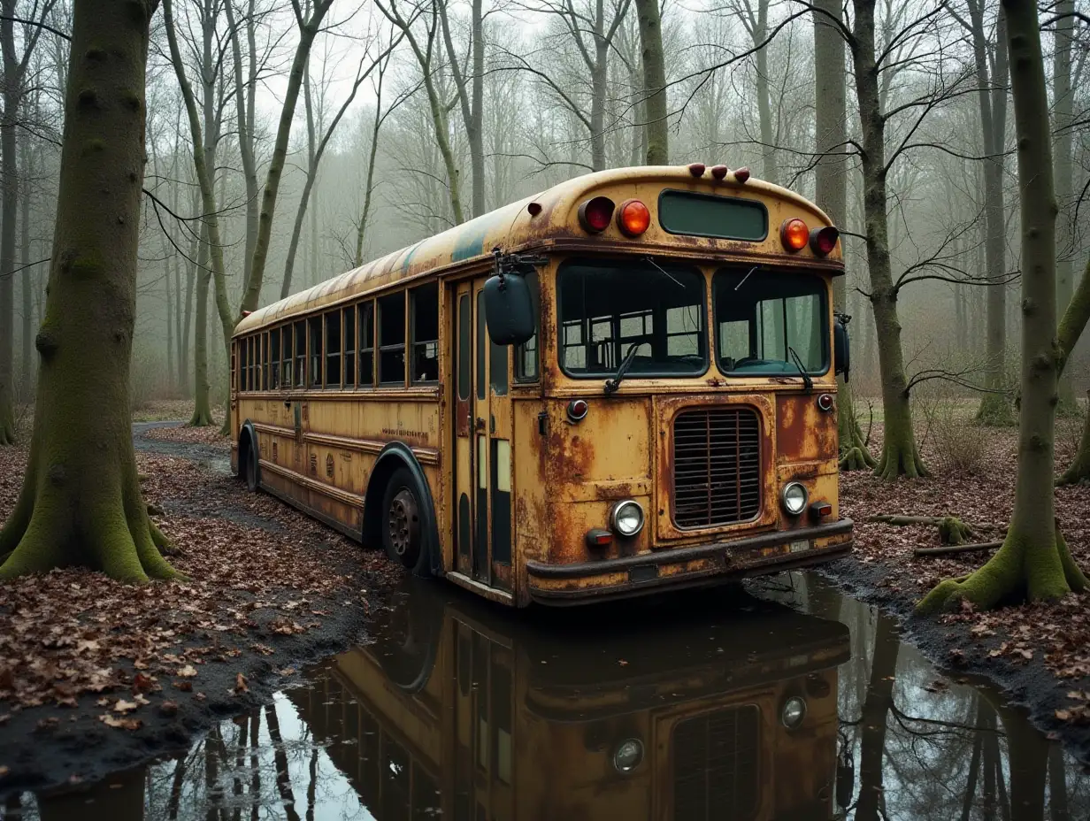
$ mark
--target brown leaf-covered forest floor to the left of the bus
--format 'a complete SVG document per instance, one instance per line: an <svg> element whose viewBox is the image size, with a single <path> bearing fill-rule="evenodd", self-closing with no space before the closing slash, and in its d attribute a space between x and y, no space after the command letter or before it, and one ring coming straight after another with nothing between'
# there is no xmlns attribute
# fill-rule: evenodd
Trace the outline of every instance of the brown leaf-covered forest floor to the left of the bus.
<svg viewBox="0 0 1090 821"><path fill-rule="evenodd" d="M247 494L215 428L155 425L134 425L137 466L181 550L170 560L191 580L133 588L56 570L0 585L0 796L184 748L365 639L402 577L379 553ZM24 448L0 449L0 522L25 462Z"/></svg>

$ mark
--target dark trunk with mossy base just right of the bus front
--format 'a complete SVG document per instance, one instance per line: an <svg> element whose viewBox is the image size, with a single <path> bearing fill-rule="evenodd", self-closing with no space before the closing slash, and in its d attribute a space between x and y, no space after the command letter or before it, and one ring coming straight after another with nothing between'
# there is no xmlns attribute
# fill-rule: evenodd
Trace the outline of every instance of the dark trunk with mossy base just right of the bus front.
<svg viewBox="0 0 1090 821"><path fill-rule="evenodd" d="M867 234L867 267L871 278L871 304L877 333L879 370L882 376L882 409L885 437L875 472L883 479L927 475L916 446L908 402L908 379L900 348L897 289L889 261L886 218L885 117L879 98L874 63L874 0L853 0L856 10L852 59L856 93L862 123L863 214Z"/></svg>

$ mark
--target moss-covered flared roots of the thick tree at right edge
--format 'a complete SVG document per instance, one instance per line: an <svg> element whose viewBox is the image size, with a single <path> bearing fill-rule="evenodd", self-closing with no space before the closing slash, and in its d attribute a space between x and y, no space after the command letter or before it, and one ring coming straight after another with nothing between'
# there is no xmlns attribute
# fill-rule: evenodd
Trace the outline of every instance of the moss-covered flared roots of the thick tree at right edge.
<svg viewBox="0 0 1090 821"><path fill-rule="evenodd" d="M967 601L992 609L1008 601L1049 602L1087 589L1059 529L1052 544L1033 544L1014 530L983 567L961 579L946 579L917 605L927 615L956 608Z"/></svg>

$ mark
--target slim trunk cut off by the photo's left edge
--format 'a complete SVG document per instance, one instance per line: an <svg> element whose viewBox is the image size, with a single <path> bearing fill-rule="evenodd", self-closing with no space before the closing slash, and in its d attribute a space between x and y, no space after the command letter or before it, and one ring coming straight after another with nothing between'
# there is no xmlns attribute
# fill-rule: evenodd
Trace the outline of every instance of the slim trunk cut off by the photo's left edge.
<svg viewBox="0 0 1090 821"><path fill-rule="evenodd" d="M15 0L0 3L0 50L3 52L3 116L0 118L0 445L15 442L15 220L19 209L19 162L15 129L23 79L15 55ZM2 554L0 554L2 555Z"/></svg>

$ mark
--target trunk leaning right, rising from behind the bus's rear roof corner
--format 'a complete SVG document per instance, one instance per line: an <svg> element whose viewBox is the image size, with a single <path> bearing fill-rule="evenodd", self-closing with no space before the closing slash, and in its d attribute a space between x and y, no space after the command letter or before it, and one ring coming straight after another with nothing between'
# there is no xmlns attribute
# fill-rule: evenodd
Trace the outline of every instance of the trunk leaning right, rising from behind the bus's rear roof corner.
<svg viewBox="0 0 1090 821"><path fill-rule="evenodd" d="M242 318L243 311L254 311L257 309L258 302L261 302L262 280L265 277L265 262L268 258L269 239L272 236L272 216L276 214L276 201L280 192L280 178L283 174L283 164L288 157L288 138L291 136L291 123L295 119L295 104L299 101L299 89L303 84L303 75L306 73L314 37L322 28L322 20L325 17L326 12L329 11L331 4L332 0L317 0L310 20L299 27L299 45L295 47L295 58L291 64L291 73L288 75L288 88L283 96L283 107L280 109L280 123L277 126L276 145L272 147L272 157L269 159L269 170L265 178L265 193L262 194L262 210L258 220L257 241L254 245L253 264L250 269L250 279L245 283L238 318L231 323L232 328ZM230 339L230 333L228 333L228 339Z"/></svg>

